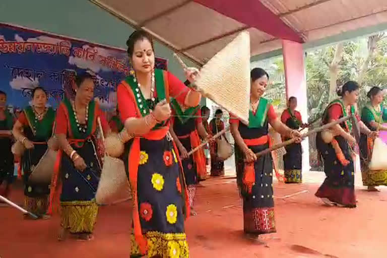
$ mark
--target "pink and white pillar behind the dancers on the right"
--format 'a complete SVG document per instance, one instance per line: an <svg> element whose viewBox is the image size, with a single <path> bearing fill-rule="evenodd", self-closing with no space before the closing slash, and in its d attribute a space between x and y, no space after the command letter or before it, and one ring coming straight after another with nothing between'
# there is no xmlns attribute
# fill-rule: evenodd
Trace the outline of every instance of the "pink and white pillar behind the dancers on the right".
<svg viewBox="0 0 387 258"><path fill-rule="evenodd" d="M282 40L285 67L286 99L297 98L297 110L301 113L303 122L307 122L308 104L306 97L306 73L304 50L302 44L290 40ZM309 166L309 142L302 141L302 172L307 172Z"/></svg>

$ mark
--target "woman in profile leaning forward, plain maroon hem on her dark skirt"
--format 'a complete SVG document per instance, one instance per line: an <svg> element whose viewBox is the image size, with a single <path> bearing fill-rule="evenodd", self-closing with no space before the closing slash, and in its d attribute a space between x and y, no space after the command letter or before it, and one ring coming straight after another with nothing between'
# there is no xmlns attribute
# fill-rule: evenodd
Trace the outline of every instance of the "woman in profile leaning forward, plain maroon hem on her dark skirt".
<svg viewBox="0 0 387 258"><path fill-rule="evenodd" d="M360 125L360 132L375 137L375 132L372 133L360 121L354 106L359 95L359 85L356 82L349 81L343 85L338 95L341 98L332 101L324 111L322 124L332 122L349 114L356 114ZM335 125L332 130L336 137L328 144L322 140L320 133L316 135L316 147L324 161L326 179L318 188L315 196L329 206L356 207L355 171L353 165L353 150L356 141L351 135L352 126L351 120Z"/></svg>

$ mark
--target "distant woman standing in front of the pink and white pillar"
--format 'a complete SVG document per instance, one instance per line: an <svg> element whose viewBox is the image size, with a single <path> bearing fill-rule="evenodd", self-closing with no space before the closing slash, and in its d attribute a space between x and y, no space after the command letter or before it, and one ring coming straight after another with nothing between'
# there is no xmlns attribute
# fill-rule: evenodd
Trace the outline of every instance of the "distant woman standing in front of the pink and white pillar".
<svg viewBox="0 0 387 258"><path fill-rule="evenodd" d="M300 127L306 127L302 123L301 113L296 110L297 98L290 97L288 108L282 112L281 121L289 128L299 130ZM283 141L289 140L283 137ZM286 154L284 159L284 170L286 183L302 183L302 147L301 143L290 144L285 147Z"/></svg>

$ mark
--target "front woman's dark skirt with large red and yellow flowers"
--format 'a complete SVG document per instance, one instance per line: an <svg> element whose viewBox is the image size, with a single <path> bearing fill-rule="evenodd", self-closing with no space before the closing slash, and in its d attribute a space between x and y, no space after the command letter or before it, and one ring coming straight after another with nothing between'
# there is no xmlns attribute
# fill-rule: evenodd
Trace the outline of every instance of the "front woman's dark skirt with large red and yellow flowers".
<svg viewBox="0 0 387 258"><path fill-rule="evenodd" d="M128 150L123 156L127 169ZM184 233L182 173L172 141L140 140L137 197L142 233L148 240L148 257L188 257ZM132 235L132 257L140 250ZM159 256L158 256L159 255ZM177 256L176 256L177 255Z"/></svg>

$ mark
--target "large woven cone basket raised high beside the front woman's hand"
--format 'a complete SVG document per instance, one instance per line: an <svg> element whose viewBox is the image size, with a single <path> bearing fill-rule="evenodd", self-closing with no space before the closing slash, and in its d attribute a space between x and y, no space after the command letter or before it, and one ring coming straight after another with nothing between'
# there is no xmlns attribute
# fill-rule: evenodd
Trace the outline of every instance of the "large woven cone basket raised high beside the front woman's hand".
<svg viewBox="0 0 387 258"><path fill-rule="evenodd" d="M250 108L250 36L240 33L201 69L195 82L205 97L248 124ZM230 85L230 87L225 87Z"/></svg>

